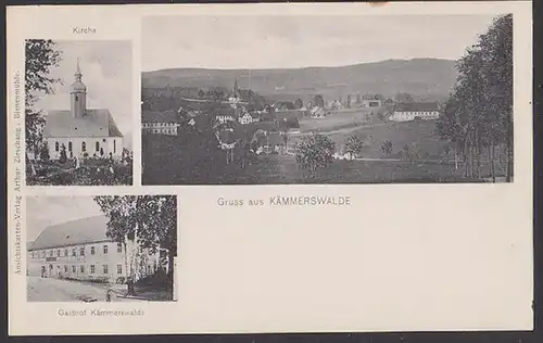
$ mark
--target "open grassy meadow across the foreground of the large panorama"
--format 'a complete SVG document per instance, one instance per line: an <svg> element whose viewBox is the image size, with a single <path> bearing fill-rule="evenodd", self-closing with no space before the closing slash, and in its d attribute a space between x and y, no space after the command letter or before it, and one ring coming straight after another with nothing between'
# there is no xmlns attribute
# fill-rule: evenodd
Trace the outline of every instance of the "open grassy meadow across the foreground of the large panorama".
<svg viewBox="0 0 543 343"><path fill-rule="evenodd" d="M339 125L339 122L327 123ZM142 140L142 181L144 185L433 183L480 182L490 178L490 163L483 154L481 179L465 179L463 163L458 161L455 165L451 155L444 158L445 142L435 135L433 122L380 123L336 130L328 126L328 129L331 131L324 135L336 142L337 151L351 135L366 139L362 157L371 161L336 160L329 167L310 174L299 168L293 155L267 155L241 168L226 163L226 153L217 148L211 132L149 136ZM295 144L303 135L308 134L291 135L288 144ZM380 161L386 139L392 142L393 152L387 161ZM414 143L419 156L415 161L400 158L403 147ZM505 160L496 155L496 176L504 176L505 167Z"/></svg>

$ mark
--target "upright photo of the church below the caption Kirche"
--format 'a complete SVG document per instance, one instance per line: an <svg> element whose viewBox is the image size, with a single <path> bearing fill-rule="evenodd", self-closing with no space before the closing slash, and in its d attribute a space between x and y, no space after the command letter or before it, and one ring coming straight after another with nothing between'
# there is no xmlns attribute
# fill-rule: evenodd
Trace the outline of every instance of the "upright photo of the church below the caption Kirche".
<svg viewBox="0 0 543 343"><path fill-rule="evenodd" d="M25 47L26 183L132 183L130 41Z"/></svg>

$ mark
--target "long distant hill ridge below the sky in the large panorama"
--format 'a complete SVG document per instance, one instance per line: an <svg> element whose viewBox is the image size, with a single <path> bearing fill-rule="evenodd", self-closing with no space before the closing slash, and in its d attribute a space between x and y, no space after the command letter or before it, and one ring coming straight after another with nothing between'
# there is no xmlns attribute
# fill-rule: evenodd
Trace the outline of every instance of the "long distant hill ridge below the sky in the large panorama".
<svg viewBox="0 0 543 343"><path fill-rule="evenodd" d="M456 71L454 61L437 59L295 69L175 68L142 73L141 85L143 88L219 86L231 89L236 78L240 88L270 99L308 99L316 93L337 98L356 92L393 97L396 92L408 92L416 98L433 100L449 93Z"/></svg>

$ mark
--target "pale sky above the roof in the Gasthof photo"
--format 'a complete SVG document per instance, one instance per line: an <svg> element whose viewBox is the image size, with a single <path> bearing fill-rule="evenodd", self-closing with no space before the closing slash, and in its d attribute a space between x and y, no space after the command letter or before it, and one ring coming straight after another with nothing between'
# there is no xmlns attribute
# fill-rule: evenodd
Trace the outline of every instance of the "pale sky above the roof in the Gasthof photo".
<svg viewBox="0 0 543 343"><path fill-rule="evenodd" d="M92 196L28 196L26 241L34 241L51 225L102 215Z"/></svg>

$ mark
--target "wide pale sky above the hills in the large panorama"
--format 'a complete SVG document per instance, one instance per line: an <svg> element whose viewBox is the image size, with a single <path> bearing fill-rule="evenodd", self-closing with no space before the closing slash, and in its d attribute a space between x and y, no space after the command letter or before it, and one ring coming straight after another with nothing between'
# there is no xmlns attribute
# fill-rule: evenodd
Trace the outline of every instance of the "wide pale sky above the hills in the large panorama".
<svg viewBox="0 0 543 343"><path fill-rule="evenodd" d="M142 21L142 69L456 60L491 22L490 15L149 16Z"/></svg>

